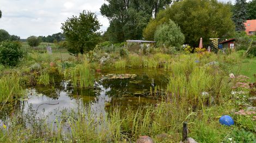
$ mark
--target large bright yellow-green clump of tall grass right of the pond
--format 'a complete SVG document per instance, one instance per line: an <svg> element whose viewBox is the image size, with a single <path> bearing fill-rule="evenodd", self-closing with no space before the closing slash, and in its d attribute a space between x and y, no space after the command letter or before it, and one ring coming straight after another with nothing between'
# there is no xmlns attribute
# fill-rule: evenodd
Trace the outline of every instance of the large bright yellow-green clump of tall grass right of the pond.
<svg viewBox="0 0 256 143"><path fill-rule="evenodd" d="M229 85L223 82L225 73L218 67L198 67L190 59L171 65L167 92L172 102L188 103L193 107L200 106L201 102L209 105L213 100L219 102L227 92Z"/></svg>

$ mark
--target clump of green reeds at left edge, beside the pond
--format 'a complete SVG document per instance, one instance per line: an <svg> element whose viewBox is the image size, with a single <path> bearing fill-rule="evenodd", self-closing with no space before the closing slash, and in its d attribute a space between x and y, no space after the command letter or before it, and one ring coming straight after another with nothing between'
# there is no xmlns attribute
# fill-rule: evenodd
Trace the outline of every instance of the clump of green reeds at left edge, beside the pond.
<svg viewBox="0 0 256 143"><path fill-rule="evenodd" d="M0 101L9 101L14 97L17 99L24 94L20 83L20 77L12 75L4 75L0 79Z"/></svg>

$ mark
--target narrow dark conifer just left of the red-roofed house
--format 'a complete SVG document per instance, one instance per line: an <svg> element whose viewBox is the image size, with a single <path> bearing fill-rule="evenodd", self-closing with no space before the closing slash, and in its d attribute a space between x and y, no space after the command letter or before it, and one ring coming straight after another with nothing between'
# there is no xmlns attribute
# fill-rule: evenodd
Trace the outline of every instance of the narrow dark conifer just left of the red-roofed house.
<svg viewBox="0 0 256 143"><path fill-rule="evenodd" d="M233 21L235 22L236 31L245 31L246 15L246 0L236 0L233 11Z"/></svg>

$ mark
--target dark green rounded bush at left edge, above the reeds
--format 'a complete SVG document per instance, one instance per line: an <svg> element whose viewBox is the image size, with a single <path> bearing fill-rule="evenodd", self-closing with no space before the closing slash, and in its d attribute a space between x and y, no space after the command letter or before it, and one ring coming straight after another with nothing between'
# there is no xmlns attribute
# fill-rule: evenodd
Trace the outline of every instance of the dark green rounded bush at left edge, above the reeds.
<svg viewBox="0 0 256 143"><path fill-rule="evenodd" d="M16 66L24 56L21 43L5 41L0 44L0 63L5 66Z"/></svg>

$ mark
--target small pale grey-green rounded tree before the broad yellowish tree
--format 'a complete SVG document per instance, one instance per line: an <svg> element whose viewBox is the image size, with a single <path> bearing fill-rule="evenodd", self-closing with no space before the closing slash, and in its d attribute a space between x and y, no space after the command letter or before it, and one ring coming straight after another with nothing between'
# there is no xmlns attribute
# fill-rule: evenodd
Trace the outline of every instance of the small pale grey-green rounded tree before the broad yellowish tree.
<svg viewBox="0 0 256 143"><path fill-rule="evenodd" d="M157 27L155 41L157 42L157 46L180 47L185 41L185 37L179 26L172 20L169 20L168 23L164 23Z"/></svg>

